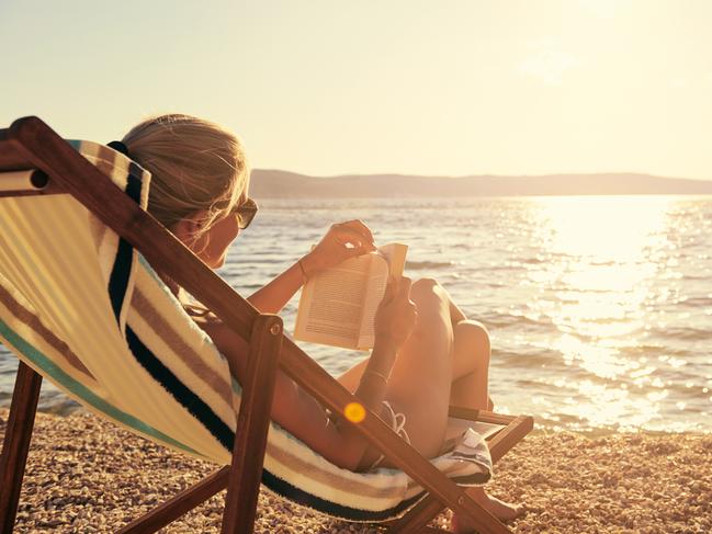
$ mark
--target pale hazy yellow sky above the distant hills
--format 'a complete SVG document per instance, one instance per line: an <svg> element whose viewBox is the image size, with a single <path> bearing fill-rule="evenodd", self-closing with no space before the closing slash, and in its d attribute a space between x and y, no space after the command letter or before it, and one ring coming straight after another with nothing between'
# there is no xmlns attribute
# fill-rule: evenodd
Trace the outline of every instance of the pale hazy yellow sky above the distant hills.
<svg viewBox="0 0 712 534"><path fill-rule="evenodd" d="M317 175L712 179L712 1L0 0L0 126L147 114Z"/></svg>

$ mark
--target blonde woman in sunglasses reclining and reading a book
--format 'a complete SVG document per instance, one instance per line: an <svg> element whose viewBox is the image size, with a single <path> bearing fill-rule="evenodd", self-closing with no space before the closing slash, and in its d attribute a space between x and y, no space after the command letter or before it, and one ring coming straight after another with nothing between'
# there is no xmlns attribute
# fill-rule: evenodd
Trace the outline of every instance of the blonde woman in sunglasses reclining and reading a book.
<svg viewBox="0 0 712 534"><path fill-rule="evenodd" d="M123 139L131 158L152 174L148 211L207 265L223 265L227 249L257 211L248 197L249 170L239 139L216 124L187 115L163 115L135 126ZM343 260L373 251L371 230L360 220L332 225L321 241L290 269L249 297L276 314L305 280ZM180 296L180 288L166 280ZM194 315L223 353L234 354L238 379L246 372L245 342L212 315ZM378 307L371 356L339 382L421 454L442 447L450 404L491 408L487 394L489 338L467 320L432 280L391 284ZM351 470L388 465L351 428L279 373L272 418L331 463ZM471 495L502 520L520 509ZM457 532L467 525L455 519Z"/></svg>

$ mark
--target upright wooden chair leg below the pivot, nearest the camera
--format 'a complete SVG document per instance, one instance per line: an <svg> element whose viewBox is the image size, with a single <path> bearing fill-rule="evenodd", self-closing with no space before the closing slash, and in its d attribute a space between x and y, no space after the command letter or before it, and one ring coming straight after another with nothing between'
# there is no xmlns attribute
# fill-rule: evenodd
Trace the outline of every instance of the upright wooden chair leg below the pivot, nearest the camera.
<svg viewBox="0 0 712 534"><path fill-rule="evenodd" d="M282 319L274 315L258 316L250 336L247 377L242 384L225 497L223 534L251 534L255 529L281 350Z"/></svg>

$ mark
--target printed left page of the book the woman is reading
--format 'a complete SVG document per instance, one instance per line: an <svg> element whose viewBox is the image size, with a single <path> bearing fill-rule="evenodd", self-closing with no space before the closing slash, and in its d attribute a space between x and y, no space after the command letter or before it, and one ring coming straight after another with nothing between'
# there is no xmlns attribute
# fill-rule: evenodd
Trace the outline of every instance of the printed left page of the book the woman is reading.
<svg viewBox="0 0 712 534"><path fill-rule="evenodd" d="M300 298L294 337L355 349L372 257L364 254L309 279Z"/></svg>

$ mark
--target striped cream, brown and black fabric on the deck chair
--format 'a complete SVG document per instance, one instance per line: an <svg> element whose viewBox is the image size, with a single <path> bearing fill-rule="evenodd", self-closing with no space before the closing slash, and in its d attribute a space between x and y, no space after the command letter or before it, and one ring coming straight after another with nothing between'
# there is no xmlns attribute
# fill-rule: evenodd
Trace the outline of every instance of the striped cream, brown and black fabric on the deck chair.
<svg viewBox="0 0 712 534"><path fill-rule="evenodd" d="M146 208L146 170L105 146L70 143L111 178L106 186ZM228 465L240 386L145 259L70 195L0 198L0 340L89 410ZM463 486L483 485L493 473L472 429L431 462ZM393 519L425 495L397 469L337 467L274 422L262 482L350 521Z"/></svg>

